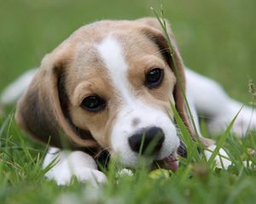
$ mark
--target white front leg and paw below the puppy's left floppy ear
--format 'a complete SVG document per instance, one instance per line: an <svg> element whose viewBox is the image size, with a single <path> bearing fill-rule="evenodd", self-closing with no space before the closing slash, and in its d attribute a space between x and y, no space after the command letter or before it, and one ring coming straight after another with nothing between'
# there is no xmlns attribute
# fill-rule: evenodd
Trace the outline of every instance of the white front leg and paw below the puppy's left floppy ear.
<svg viewBox="0 0 256 204"><path fill-rule="evenodd" d="M83 151L50 148L44 158L43 167L48 167L51 162L53 167L45 176L59 185L69 184L73 177L94 186L107 181L104 173L97 170L96 161Z"/></svg>

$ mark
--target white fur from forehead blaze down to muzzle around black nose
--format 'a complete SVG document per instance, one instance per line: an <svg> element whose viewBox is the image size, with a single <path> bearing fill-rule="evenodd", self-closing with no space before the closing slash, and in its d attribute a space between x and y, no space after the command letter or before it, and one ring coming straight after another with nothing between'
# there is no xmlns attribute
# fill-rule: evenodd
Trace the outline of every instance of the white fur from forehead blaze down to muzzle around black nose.
<svg viewBox="0 0 256 204"><path fill-rule="evenodd" d="M119 42L109 36L103 39L97 46L97 50L108 69L114 88L118 90L121 104L111 133L113 152L119 154L119 160L123 164L135 166L137 153L131 150L128 139L142 128L155 126L160 127L165 133L164 143L156 159L160 160L170 156L173 151L177 150L179 144L176 128L165 111L149 107L145 102L137 99L128 81L129 65L125 61ZM132 126L132 120L135 118L140 121L136 127Z"/></svg>

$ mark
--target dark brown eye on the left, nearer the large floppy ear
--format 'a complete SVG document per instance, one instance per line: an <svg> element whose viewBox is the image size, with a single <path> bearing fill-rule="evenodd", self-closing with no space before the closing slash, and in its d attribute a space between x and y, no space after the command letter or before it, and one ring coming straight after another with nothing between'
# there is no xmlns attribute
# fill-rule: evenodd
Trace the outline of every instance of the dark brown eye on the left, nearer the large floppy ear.
<svg viewBox="0 0 256 204"><path fill-rule="evenodd" d="M91 95L82 101L81 107L86 111L98 112L106 107L106 102L97 95Z"/></svg>

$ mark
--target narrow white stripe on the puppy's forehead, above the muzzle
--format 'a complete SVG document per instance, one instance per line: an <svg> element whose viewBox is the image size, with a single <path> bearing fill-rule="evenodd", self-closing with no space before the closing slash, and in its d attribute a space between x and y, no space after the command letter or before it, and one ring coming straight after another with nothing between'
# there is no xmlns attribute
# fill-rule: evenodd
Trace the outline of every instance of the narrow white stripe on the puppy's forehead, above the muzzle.
<svg viewBox="0 0 256 204"><path fill-rule="evenodd" d="M127 77L128 65L121 45L113 36L108 36L96 48L108 69L113 86L119 90L125 102L131 102L132 94L129 92L131 86Z"/></svg>

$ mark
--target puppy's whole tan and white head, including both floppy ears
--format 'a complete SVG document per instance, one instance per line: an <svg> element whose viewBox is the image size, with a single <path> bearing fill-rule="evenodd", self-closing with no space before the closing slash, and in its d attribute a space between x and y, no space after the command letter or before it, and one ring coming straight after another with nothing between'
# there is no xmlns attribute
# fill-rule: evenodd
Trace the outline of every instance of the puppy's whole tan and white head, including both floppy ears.
<svg viewBox="0 0 256 204"><path fill-rule="evenodd" d="M184 86L183 61L168 32ZM155 19L84 26L44 57L16 120L41 141L108 148L128 166L152 141L155 160L164 159L180 144L170 101L189 127L170 56Z"/></svg>

